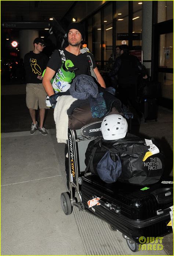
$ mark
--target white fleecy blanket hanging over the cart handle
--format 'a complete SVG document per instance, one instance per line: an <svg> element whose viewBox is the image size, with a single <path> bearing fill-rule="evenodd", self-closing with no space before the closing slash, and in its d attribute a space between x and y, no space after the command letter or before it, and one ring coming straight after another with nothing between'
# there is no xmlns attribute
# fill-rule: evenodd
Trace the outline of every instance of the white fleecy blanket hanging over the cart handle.
<svg viewBox="0 0 174 256"><path fill-rule="evenodd" d="M54 121L58 143L66 143L68 139L68 115L66 112L75 100L77 99L73 98L71 95L58 97L54 108Z"/></svg>

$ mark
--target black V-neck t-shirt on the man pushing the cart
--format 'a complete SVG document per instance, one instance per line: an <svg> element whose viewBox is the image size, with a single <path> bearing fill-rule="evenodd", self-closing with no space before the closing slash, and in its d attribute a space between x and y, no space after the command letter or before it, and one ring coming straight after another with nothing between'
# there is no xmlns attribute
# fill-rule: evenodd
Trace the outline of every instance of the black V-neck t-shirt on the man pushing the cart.
<svg viewBox="0 0 174 256"><path fill-rule="evenodd" d="M65 54L66 60L67 59L71 60L75 68L78 68L76 70L76 76L88 75L89 66L88 66L88 59L87 59L86 53L80 53L79 55L76 56L73 53L66 51L65 49L63 49L63 51ZM93 61L93 68L96 68L94 56L89 52L87 52L87 54L91 56L91 59ZM48 61L47 67L54 71L57 71L59 68L61 68L61 65L62 65L62 59L61 59L60 53L58 50L55 50Z"/></svg>

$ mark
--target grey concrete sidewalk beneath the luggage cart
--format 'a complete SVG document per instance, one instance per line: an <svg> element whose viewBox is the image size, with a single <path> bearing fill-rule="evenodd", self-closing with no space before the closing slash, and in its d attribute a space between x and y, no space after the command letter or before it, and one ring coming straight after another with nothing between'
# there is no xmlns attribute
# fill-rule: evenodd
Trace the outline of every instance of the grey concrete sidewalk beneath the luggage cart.
<svg viewBox="0 0 174 256"><path fill-rule="evenodd" d="M153 134L151 127L141 125L141 131ZM76 207L64 214L65 144L55 134L1 134L1 255L173 255L173 233L164 237L162 251L133 253L101 219ZM162 136L170 132L163 129Z"/></svg>

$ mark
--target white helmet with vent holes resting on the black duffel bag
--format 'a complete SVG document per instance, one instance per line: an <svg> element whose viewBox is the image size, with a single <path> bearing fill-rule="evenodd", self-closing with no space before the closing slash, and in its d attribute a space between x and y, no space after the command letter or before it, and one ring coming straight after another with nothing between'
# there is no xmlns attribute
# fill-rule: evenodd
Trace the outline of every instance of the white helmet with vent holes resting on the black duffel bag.
<svg viewBox="0 0 174 256"><path fill-rule="evenodd" d="M112 114L104 118L101 132L106 140L121 139L126 136L128 124L122 115Z"/></svg>

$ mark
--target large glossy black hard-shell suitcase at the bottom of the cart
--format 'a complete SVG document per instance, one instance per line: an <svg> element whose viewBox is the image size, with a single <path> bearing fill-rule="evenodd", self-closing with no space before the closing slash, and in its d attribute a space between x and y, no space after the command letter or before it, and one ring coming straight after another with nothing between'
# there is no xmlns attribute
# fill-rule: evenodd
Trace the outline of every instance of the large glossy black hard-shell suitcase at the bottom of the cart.
<svg viewBox="0 0 174 256"><path fill-rule="evenodd" d="M166 181L167 179L165 179ZM83 179L82 196L85 210L108 222L113 229L139 243L139 238L159 237L172 232L170 211L173 205L173 184L133 186L116 183L106 184L96 175ZM100 205L89 208L93 198Z"/></svg>

